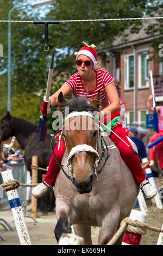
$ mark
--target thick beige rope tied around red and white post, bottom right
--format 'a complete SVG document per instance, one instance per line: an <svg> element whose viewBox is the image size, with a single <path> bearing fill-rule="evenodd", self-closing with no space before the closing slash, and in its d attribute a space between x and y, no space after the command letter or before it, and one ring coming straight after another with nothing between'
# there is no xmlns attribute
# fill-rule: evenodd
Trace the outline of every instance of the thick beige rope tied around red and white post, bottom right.
<svg viewBox="0 0 163 256"><path fill-rule="evenodd" d="M132 225L133 227L136 228L142 228L143 230L134 229L132 227L129 227L127 224ZM118 229L117 233L112 237L112 239L107 243L107 245L114 245L118 238L123 234L124 230L139 235L145 235L147 233L147 230L163 233L163 229L161 228L152 227L148 223L141 223L139 221L129 220L129 217L124 218L121 221L120 226L121 227Z"/></svg>

